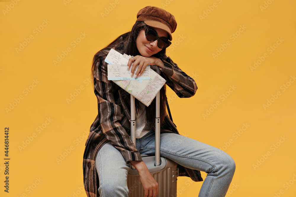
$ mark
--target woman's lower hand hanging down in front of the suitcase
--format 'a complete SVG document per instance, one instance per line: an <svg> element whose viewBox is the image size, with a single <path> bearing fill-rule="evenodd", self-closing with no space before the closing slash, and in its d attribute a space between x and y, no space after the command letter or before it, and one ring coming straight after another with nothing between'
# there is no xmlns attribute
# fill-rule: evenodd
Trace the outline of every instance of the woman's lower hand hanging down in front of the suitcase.
<svg viewBox="0 0 296 197"><path fill-rule="evenodd" d="M158 194L158 184L150 174L146 164L143 161L130 161L131 165L139 172L139 178L144 188L144 197L156 197Z"/></svg>

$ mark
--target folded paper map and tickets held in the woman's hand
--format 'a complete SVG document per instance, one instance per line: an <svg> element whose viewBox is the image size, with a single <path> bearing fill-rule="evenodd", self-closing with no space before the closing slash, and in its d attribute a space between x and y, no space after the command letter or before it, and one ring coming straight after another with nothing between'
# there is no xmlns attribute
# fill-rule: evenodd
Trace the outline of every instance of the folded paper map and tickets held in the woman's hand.
<svg viewBox="0 0 296 197"><path fill-rule="evenodd" d="M123 65L127 69L127 63L129 58L131 58L131 56L128 56L126 54L122 55L117 51L115 51L114 49L111 49L104 61L111 65L111 66L109 65L110 68L117 69L117 76L119 76L118 66L120 65L121 67ZM115 66L114 64L117 66ZM109 66L108 66L108 80L110 80ZM112 70L113 69L110 69L111 73L113 72ZM160 89L163 87L166 81L154 70L149 69L148 66L145 69L145 71L146 70L149 70L149 75L150 75L149 79L138 80L140 79L140 77L137 77L136 80L135 79L133 80L131 79L130 80L112 80L111 79L111 80L115 82L117 85L119 85L126 92L133 95L136 99L138 99L144 105L149 106L152 100L155 98L157 92L160 91ZM130 72L129 72L129 75L130 75Z"/></svg>

